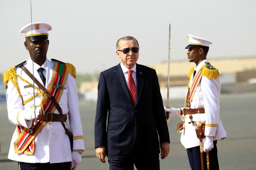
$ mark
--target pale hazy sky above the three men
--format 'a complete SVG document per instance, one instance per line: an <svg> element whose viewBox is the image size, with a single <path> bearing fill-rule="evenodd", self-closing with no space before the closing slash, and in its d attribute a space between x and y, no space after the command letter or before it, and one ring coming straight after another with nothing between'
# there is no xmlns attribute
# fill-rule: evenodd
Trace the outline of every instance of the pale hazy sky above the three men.
<svg viewBox="0 0 256 170"><path fill-rule="evenodd" d="M78 73L106 70L120 62L116 41L134 36L137 63L187 60L187 34L213 42L208 58L256 55L255 0L32 0L32 22L46 22L47 58L75 65ZM0 2L0 72L28 60L24 33L30 0Z"/></svg>

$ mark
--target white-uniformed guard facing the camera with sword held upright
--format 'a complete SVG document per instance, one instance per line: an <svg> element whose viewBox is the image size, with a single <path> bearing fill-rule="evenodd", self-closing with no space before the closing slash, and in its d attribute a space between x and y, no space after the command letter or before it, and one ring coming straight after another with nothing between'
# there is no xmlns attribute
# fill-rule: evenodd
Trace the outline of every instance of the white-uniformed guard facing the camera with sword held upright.
<svg viewBox="0 0 256 170"><path fill-rule="evenodd" d="M8 158L21 170L76 169L84 151L76 70L46 58L51 29L43 22L24 26L30 57L4 73L8 118L17 126Z"/></svg>

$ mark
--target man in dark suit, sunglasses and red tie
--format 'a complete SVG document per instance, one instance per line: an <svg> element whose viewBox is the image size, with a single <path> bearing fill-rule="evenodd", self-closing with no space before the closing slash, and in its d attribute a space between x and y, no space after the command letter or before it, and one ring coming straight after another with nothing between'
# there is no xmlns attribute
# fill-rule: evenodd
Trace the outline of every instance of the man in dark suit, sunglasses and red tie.
<svg viewBox="0 0 256 170"><path fill-rule="evenodd" d="M169 131L156 71L137 64L138 41L117 41L120 63L100 73L95 117L98 159L111 170L160 169L169 154ZM160 147L159 147L160 145Z"/></svg>

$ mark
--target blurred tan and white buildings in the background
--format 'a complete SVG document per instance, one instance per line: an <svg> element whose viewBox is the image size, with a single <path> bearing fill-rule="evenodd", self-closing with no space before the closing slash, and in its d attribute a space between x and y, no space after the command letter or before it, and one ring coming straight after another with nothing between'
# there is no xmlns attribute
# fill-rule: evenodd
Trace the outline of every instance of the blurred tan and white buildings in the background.
<svg viewBox="0 0 256 170"><path fill-rule="evenodd" d="M256 56L210 58L211 65L219 70L221 93L256 92ZM139 62L138 62L139 63ZM163 99L167 97L168 62L149 64L156 70ZM169 98L184 98L188 83L187 74L194 67L188 60L170 62ZM81 82L78 88L85 100L97 100L98 78Z"/></svg>

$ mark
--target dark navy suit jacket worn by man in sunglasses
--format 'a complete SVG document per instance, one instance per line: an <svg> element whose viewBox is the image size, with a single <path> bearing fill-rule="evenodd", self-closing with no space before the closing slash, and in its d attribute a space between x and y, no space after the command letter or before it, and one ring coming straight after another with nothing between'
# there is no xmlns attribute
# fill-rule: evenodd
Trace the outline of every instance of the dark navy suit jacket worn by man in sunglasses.
<svg viewBox="0 0 256 170"><path fill-rule="evenodd" d="M136 64L134 106L120 64L100 73L95 116L95 148L107 155L159 154L159 142L170 142L156 71Z"/></svg>

